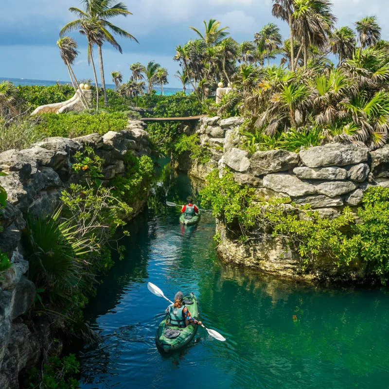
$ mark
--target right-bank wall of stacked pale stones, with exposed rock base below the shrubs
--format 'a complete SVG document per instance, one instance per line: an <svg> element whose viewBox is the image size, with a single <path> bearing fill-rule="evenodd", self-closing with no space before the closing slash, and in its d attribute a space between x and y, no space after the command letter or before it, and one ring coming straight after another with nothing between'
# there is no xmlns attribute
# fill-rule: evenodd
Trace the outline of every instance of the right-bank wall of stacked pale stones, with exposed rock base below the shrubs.
<svg viewBox="0 0 389 389"><path fill-rule="evenodd" d="M270 150L250 155L239 148L237 127L241 121L241 118L201 119L196 132L212 158L207 164L190 166L185 159L189 174L204 179L212 169L218 168L223 174L227 167L236 182L255 188L259 196L290 197L296 204L310 204L321 217L330 219L339 216L345 206L356 210L369 187L389 187L389 145L370 152L366 147L332 143L301 150L299 154ZM300 212L304 217L305 211ZM328 258L321 258L303 274L301 258L291 252L286 242L269 235L260 243L240 245L220 222L217 230L222 238L218 252L230 262L310 280L355 280L366 276L364 266L338 268Z"/></svg>

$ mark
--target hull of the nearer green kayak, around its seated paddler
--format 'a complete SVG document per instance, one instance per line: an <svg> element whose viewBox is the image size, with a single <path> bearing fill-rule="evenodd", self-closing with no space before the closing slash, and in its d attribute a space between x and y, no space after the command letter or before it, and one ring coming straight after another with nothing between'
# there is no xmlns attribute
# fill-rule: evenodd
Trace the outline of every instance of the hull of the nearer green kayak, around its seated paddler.
<svg viewBox="0 0 389 389"><path fill-rule="evenodd" d="M192 293L184 297L184 304L188 308L192 317L198 318L198 301ZM165 353L178 350L188 344L197 332L197 324L189 324L188 327L178 328L168 325L169 316L166 315L160 322L156 334L156 345Z"/></svg>

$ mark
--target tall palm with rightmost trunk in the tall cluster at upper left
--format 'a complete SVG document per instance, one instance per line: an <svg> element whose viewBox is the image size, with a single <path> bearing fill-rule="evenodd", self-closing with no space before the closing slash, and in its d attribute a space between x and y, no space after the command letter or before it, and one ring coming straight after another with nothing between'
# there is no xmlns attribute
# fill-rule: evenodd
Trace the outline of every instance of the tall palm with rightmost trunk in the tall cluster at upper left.
<svg viewBox="0 0 389 389"><path fill-rule="evenodd" d="M116 3L115 0L82 0L82 2L84 3L84 11L76 7L69 8L69 11L76 14L79 19L73 20L68 23L61 30L60 35L62 36L67 31L70 31L74 28L79 28L81 19L94 19L97 22L96 27L98 27L100 37L95 43L97 44L99 54L100 77L104 94L104 104L105 106L108 106L103 66L103 43L106 41L110 43L115 49L117 49L120 53L123 53L121 46L108 30L111 30L115 35L118 35L122 38L127 38L138 42L138 40L133 35L110 23L108 19L114 18L119 15L126 17L132 14L128 11L128 8L124 3Z"/></svg>

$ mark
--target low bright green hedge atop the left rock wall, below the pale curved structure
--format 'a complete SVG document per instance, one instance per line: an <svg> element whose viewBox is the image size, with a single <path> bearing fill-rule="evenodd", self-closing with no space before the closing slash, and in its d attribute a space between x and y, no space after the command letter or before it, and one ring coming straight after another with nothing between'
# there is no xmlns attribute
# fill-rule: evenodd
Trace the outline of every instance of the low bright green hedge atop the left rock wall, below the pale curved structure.
<svg viewBox="0 0 389 389"><path fill-rule="evenodd" d="M120 112L96 115L42 114L38 125L41 133L50 137L75 138L95 132L122 131L127 126L127 116Z"/></svg>

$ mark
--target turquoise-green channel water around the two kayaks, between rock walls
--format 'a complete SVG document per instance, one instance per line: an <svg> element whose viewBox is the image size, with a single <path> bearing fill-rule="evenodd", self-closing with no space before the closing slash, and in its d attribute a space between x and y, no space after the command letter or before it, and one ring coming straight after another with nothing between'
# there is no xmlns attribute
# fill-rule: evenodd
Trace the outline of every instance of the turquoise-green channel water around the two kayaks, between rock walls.
<svg viewBox="0 0 389 389"><path fill-rule="evenodd" d="M78 355L81 387L388 388L388 290L310 286L221 263L211 214L185 228L179 209L163 206L196 190L164 168L149 210L129 224L125 258L86 310L103 340ZM168 303L148 281L169 298L195 292L202 320L227 341L200 328L181 351L160 354L155 331Z"/></svg>

